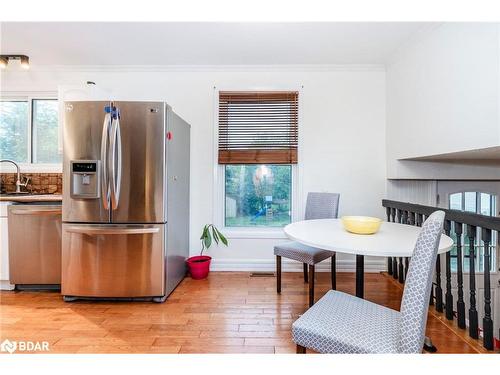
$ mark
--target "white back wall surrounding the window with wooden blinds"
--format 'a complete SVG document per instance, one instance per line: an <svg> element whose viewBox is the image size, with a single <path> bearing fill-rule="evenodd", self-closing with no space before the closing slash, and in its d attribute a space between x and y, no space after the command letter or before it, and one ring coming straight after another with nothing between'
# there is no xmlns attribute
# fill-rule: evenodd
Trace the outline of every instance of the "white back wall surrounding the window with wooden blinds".
<svg viewBox="0 0 500 375"><path fill-rule="evenodd" d="M9 91L55 91L59 85L87 80L110 89L113 99L164 99L191 128L191 253L199 251L199 231L212 222L214 210L214 87L225 90L300 89L299 183L303 202L308 191L341 194L340 215L384 217L385 72L380 67L323 71L255 69L226 71L157 71L107 68L105 71L54 69L4 72ZM276 238L232 238L229 248L209 252L213 269L271 270ZM367 260L367 269L384 260ZM299 265L296 265L299 269ZM325 265L326 266L326 265ZM351 258L341 269L354 269Z"/></svg>

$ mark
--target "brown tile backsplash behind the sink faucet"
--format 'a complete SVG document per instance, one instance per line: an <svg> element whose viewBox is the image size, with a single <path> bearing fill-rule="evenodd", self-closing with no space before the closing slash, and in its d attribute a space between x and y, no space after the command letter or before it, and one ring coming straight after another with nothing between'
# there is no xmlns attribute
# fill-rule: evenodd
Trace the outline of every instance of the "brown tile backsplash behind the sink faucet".
<svg viewBox="0 0 500 375"><path fill-rule="evenodd" d="M1 192L16 191L16 174L1 173ZM22 173L21 179L29 178L28 185L22 187L23 191L34 194L62 194L62 173Z"/></svg>

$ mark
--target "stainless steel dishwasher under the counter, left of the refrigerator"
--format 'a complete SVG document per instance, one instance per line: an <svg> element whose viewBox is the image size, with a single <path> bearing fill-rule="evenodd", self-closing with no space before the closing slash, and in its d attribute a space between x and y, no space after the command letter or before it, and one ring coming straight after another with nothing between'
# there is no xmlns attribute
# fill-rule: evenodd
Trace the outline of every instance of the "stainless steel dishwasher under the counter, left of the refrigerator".
<svg viewBox="0 0 500 375"><path fill-rule="evenodd" d="M60 288L61 218L60 204L9 206L9 273L17 289Z"/></svg>

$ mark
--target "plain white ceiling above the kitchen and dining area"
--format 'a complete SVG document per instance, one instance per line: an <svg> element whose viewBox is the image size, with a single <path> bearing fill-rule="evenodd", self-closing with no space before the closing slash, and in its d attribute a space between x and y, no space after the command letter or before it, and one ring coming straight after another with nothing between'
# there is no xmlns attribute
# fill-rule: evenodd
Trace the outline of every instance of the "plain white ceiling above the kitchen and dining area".
<svg viewBox="0 0 500 375"><path fill-rule="evenodd" d="M383 64L429 23L3 22L2 54L39 65Z"/></svg>

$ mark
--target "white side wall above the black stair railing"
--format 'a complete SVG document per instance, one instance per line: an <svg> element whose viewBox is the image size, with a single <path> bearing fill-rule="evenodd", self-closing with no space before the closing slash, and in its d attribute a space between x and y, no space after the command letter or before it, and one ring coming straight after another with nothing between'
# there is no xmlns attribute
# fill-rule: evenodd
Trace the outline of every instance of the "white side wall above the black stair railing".
<svg viewBox="0 0 500 375"><path fill-rule="evenodd" d="M499 178L495 166L398 161L500 144L500 38L495 23L447 23L387 66L389 178Z"/></svg>

